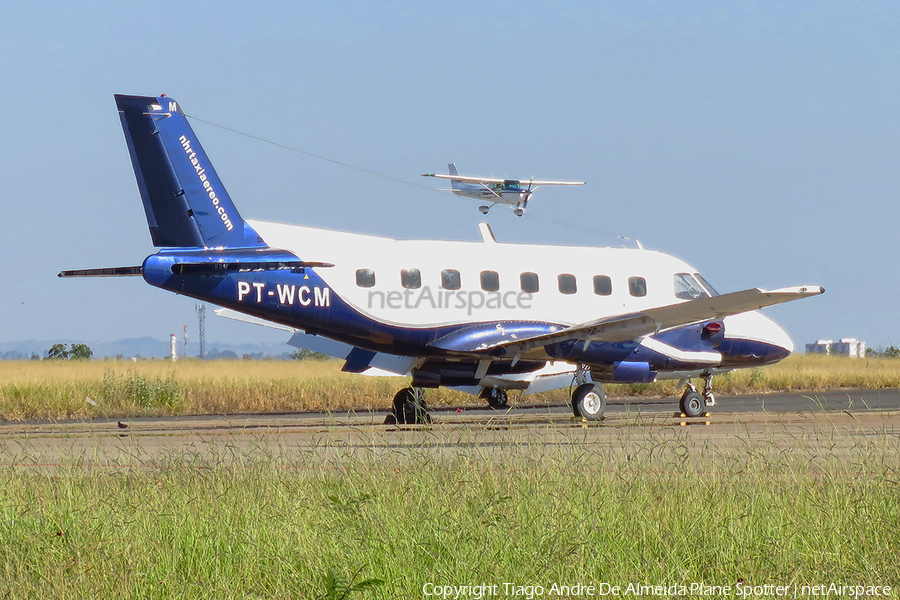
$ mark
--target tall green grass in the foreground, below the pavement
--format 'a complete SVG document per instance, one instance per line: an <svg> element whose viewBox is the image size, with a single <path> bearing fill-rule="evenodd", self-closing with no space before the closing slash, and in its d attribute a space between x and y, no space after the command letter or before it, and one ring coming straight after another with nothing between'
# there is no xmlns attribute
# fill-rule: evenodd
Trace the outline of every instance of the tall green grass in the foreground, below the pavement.
<svg viewBox="0 0 900 600"><path fill-rule="evenodd" d="M341 597L329 573L337 591L370 580L347 598L423 598L429 582L900 584L896 435L716 448L625 431L449 456L5 467L0 598Z"/></svg>

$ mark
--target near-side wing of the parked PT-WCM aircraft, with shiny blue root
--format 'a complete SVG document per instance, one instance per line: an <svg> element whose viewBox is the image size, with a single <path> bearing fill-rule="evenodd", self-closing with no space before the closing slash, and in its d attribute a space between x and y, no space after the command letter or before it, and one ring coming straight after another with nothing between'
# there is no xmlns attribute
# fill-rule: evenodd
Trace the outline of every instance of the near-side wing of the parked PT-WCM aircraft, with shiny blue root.
<svg viewBox="0 0 900 600"><path fill-rule="evenodd" d="M520 335L521 331L507 330L489 324L484 332L474 332L474 335L471 331L461 331L459 334L454 332L429 345L463 354L527 356L529 351L571 340L583 341L585 344L635 340L664 329L723 319L766 306L816 296L824 291L825 289L819 286L795 286L777 290L753 288L597 319L553 333L524 338Z"/></svg>

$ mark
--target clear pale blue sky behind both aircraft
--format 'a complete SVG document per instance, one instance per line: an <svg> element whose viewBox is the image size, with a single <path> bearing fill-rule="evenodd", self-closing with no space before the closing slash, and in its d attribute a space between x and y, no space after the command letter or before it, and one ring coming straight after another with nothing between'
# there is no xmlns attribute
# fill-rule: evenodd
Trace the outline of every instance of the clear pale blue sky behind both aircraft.
<svg viewBox="0 0 900 600"><path fill-rule="evenodd" d="M113 94L425 187L543 188L501 241L640 239L768 309L798 344L900 344L896 2L19 2L0 20L0 342L196 332L194 301L67 268L154 252ZM245 217L478 239L476 204L194 121ZM327 257L315 257L327 260ZM577 255L572 257L577 260ZM284 334L207 320L207 339Z"/></svg>

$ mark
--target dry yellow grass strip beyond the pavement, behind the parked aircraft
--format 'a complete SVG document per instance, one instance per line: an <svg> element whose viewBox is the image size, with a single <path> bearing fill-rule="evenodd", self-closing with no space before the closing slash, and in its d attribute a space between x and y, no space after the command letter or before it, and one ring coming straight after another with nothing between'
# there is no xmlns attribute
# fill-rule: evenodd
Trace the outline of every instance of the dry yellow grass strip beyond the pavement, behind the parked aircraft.
<svg viewBox="0 0 900 600"><path fill-rule="evenodd" d="M0 419L386 409L408 383L342 373L340 366L338 361L0 361ZM608 392L676 396L675 385L611 385ZM894 387L900 387L898 359L792 356L715 378L719 394ZM556 390L529 398L561 402L567 397L567 390ZM428 401L479 402L447 389L429 390Z"/></svg>

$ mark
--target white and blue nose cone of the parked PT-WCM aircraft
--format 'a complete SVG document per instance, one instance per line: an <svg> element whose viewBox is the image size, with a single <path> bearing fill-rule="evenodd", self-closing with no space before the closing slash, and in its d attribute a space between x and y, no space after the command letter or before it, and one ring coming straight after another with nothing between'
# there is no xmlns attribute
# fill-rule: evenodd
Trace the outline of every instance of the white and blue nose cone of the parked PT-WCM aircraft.
<svg viewBox="0 0 900 600"><path fill-rule="evenodd" d="M718 348L723 362L767 365L790 356L794 342L775 321L758 311L725 318L725 341Z"/></svg>

